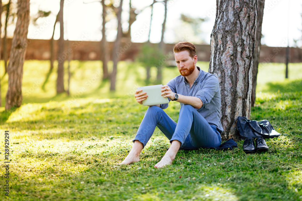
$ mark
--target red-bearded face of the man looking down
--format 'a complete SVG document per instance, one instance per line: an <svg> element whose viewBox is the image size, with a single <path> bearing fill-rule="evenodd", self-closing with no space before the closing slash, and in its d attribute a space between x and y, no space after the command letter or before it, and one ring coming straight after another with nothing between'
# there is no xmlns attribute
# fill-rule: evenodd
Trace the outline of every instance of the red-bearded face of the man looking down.
<svg viewBox="0 0 302 201"><path fill-rule="evenodd" d="M189 52L186 50L175 53L176 66L182 76L189 76L193 73L196 63L195 60L197 62L197 56L191 58Z"/></svg>

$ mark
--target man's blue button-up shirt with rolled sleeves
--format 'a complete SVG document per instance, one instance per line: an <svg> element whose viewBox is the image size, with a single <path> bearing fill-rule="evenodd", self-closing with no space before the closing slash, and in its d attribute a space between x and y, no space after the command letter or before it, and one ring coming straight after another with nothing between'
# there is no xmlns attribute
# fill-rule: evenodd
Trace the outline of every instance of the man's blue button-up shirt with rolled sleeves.
<svg viewBox="0 0 302 201"><path fill-rule="evenodd" d="M221 134L223 127L220 122L221 96L218 78L213 74L200 70L199 67L197 68L199 70L199 74L191 88L187 79L182 75L173 78L167 83L167 85L174 93L200 98L203 106L196 110L210 125L215 125L218 132ZM180 105L182 107L184 104L180 103ZM160 108L162 109L167 107L168 103L160 105Z"/></svg>

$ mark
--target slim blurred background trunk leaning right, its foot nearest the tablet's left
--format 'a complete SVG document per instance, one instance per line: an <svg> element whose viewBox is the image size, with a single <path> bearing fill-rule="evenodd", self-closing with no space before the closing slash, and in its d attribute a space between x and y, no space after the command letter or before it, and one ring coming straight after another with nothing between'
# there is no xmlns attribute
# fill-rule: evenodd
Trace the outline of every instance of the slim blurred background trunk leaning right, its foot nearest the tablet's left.
<svg viewBox="0 0 302 201"><path fill-rule="evenodd" d="M122 5L123 0L120 0L120 6L117 12L117 36L114 42L114 48L112 51L113 55L113 70L110 76L110 91L115 91L115 83L116 83L116 74L117 74L117 62L118 62L118 49L120 47L120 39L122 36L122 24L121 24L121 14L122 14Z"/></svg>

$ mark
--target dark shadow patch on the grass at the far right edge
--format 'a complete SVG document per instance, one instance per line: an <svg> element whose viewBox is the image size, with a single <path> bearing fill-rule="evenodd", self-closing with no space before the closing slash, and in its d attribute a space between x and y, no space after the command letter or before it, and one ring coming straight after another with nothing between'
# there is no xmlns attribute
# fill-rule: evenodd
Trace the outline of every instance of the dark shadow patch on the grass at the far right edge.
<svg viewBox="0 0 302 201"><path fill-rule="evenodd" d="M287 83L267 83L268 86L267 90L263 92L271 92L275 93L280 91L281 93L288 93L288 92L299 92L302 91L302 80L293 80Z"/></svg>

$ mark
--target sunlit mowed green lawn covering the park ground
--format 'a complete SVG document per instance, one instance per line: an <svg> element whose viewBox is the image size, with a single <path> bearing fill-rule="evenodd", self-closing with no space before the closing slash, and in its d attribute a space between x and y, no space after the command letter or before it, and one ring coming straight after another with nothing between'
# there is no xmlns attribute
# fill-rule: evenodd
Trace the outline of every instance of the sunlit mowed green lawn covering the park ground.
<svg viewBox="0 0 302 201"><path fill-rule="evenodd" d="M302 64L259 69L251 119L268 119L279 138L265 153L245 154L243 141L231 151L179 151L173 165L153 168L169 148L156 129L141 161L116 165L128 154L146 107L133 98L145 69L120 62L117 92L101 81L100 62L71 63L71 95L56 96L56 69L43 85L48 61L26 61L20 108L0 108L0 192L8 200L301 200ZM208 63L198 64L207 71ZM151 69L155 83L156 69ZM163 84L177 76L164 69ZM3 63L1 65L3 75ZM67 77L66 77L67 80ZM67 83L66 83L67 84ZM7 75L1 80L2 103ZM165 110L175 121L180 105ZM4 196L4 131L10 133L9 197Z"/></svg>

